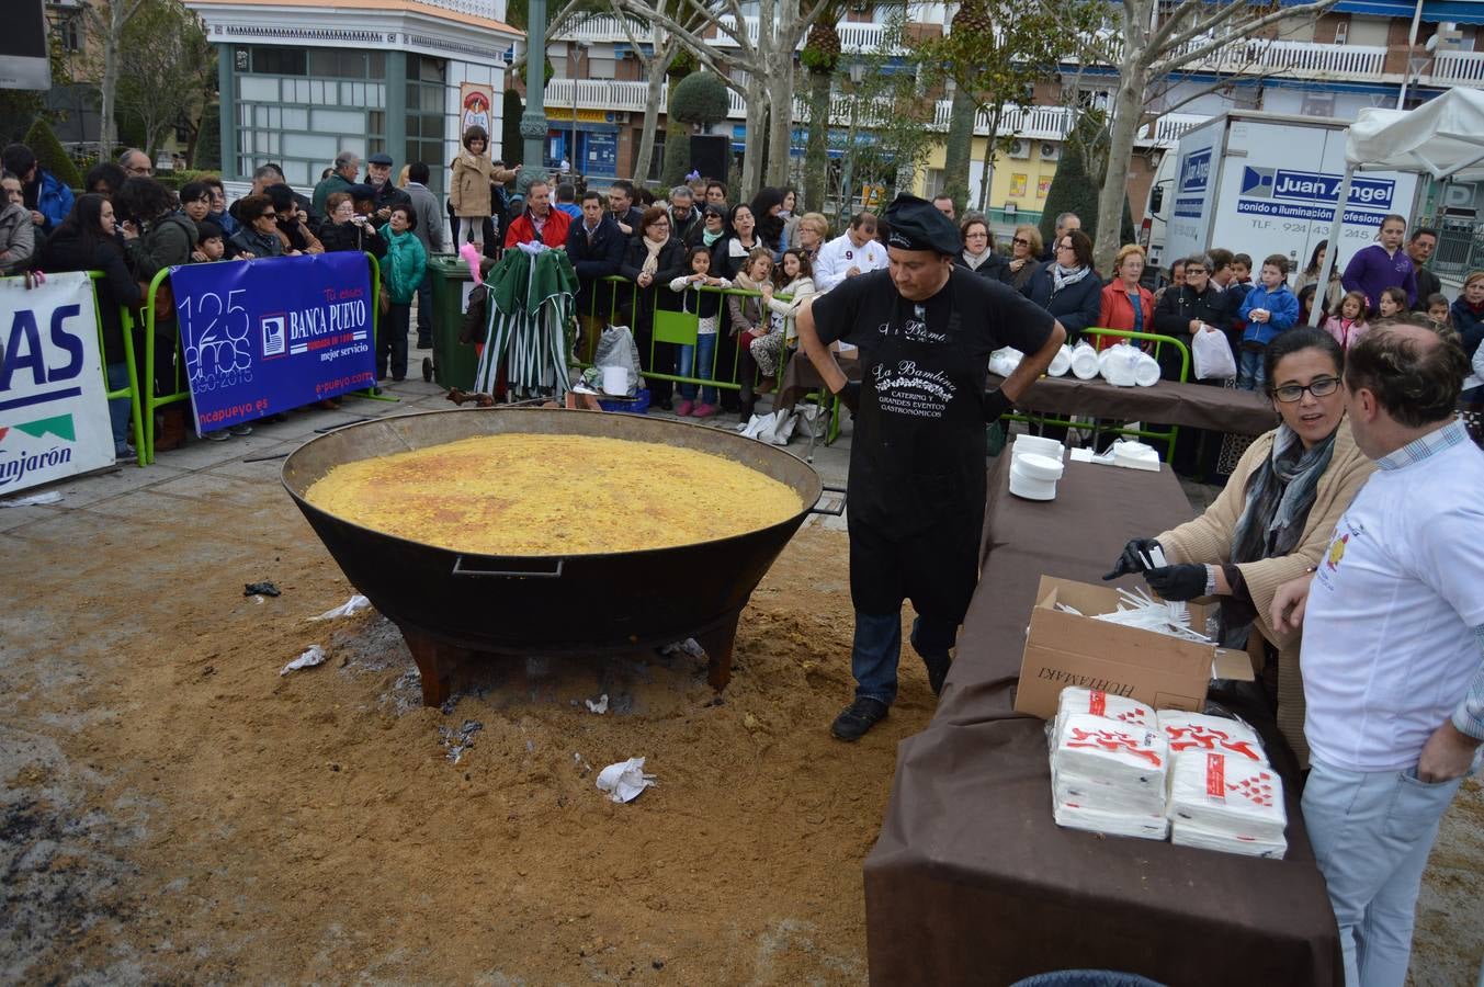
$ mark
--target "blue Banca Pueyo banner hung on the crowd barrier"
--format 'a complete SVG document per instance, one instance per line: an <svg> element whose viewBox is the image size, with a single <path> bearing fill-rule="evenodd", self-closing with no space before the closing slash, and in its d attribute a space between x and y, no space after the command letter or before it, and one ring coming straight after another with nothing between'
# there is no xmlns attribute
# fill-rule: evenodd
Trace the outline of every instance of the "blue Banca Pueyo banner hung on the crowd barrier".
<svg viewBox="0 0 1484 987"><path fill-rule="evenodd" d="M171 269L196 432L375 384L365 254Z"/></svg>

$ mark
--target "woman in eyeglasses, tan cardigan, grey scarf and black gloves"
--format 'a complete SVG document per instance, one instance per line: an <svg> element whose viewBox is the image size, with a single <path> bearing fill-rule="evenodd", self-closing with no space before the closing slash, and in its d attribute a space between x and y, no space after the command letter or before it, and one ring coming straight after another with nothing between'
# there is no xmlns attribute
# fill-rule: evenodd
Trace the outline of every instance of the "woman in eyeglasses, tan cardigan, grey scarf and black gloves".
<svg viewBox="0 0 1484 987"><path fill-rule="evenodd" d="M1269 606L1282 583L1339 561L1325 557L1330 537L1374 466L1345 423L1345 350L1334 337L1290 329L1267 344L1263 362L1278 427L1257 436L1205 514L1134 539L1104 579L1143 573L1165 600L1214 597L1218 643L1252 656L1263 699L1307 767L1298 635L1273 628ZM1165 565L1144 561L1155 546Z"/></svg>

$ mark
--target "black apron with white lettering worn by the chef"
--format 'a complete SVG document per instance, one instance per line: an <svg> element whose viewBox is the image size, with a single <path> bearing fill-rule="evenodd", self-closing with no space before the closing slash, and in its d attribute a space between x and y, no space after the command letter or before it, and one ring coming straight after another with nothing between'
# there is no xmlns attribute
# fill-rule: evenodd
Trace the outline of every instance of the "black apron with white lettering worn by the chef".
<svg viewBox="0 0 1484 987"><path fill-rule="evenodd" d="M925 617L957 625L984 527L985 362L951 285L945 319L932 325L925 303L899 298L862 346L849 527L856 610L893 613L910 598Z"/></svg>

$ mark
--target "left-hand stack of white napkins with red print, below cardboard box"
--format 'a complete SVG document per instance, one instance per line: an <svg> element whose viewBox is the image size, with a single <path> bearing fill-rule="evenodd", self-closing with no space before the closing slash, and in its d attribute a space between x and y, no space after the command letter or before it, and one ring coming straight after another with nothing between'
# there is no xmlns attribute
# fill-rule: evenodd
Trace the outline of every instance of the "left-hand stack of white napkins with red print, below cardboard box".
<svg viewBox="0 0 1484 987"><path fill-rule="evenodd" d="M1153 711L1122 696L1066 689L1054 726L1058 825L1162 840L1169 751Z"/></svg>

